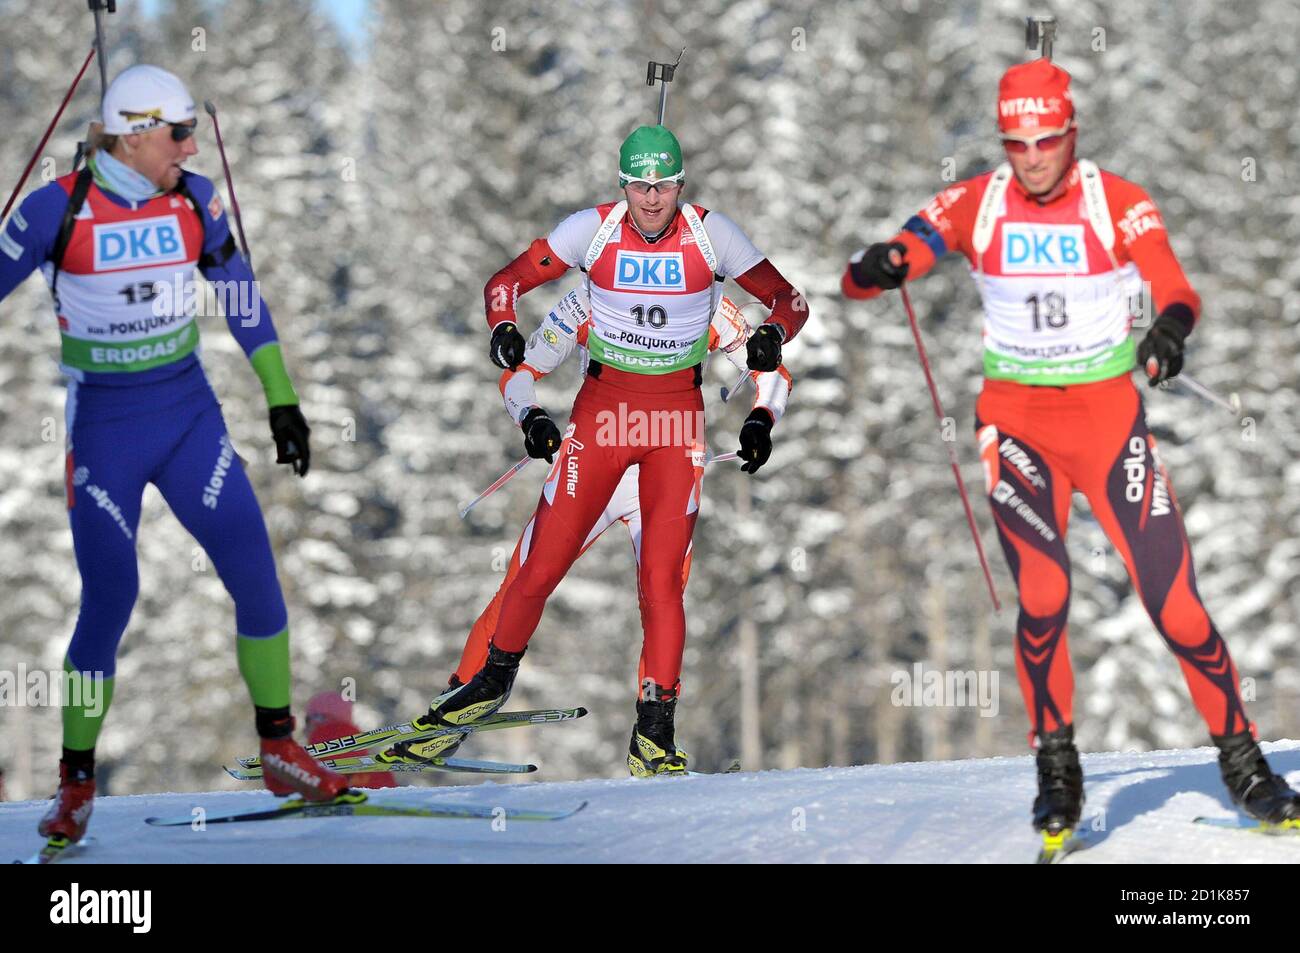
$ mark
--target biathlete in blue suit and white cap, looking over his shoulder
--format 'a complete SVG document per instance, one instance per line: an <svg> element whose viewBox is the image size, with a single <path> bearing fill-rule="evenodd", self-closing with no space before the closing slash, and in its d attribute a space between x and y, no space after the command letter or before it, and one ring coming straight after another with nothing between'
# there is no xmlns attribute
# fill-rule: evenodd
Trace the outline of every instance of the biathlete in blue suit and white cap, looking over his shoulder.
<svg viewBox="0 0 1300 953"><path fill-rule="evenodd" d="M261 380L278 463L306 476L308 426L270 312L235 250L198 153L194 100L156 66L105 92L87 166L34 191L0 231L0 300L40 268L68 378L66 491L82 579L65 657L60 787L40 833L75 841L95 796L95 745L114 689L117 645L139 590L135 537L146 484L208 553L235 602L239 671L252 694L266 787L329 800L346 780L292 740L289 621L243 464L199 363L194 272L214 283L230 333Z"/></svg>

